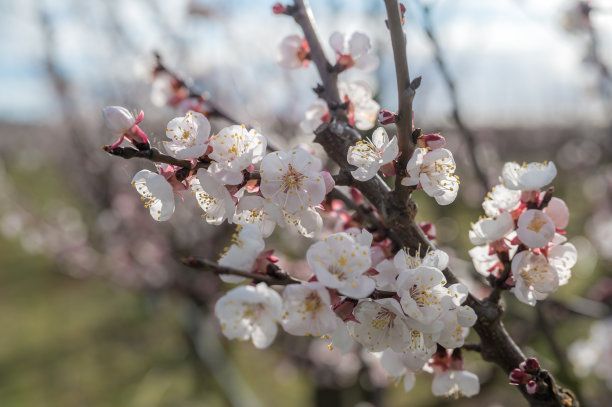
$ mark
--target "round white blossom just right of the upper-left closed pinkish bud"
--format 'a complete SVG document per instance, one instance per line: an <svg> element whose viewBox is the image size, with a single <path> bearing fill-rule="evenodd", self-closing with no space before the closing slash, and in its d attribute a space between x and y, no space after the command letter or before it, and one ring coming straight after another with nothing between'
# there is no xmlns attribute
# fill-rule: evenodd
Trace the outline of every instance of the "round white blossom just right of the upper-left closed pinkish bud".
<svg viewBox="0 0 612 407"><path fill-rule="evenodd" d="M179 160L198 158L206 152L205 142L210 135L210 123L201 113L189 111L185 117L177 117L168 123L164 141L168 154Z"/></svg>

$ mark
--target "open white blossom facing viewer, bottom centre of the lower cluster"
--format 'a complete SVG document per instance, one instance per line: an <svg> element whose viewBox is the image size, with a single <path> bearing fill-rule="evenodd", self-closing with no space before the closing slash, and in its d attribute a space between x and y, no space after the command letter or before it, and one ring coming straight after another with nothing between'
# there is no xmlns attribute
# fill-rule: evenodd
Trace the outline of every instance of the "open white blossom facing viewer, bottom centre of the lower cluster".
<svg viewBox="0 0 612 407"><path fill-rule="evenodd" d="M357 322L349 321L353 339L370 352L391 348L401 352L410 339L410 332L403 319L402 307L393 298L361 301L353 310Z"/></svg>

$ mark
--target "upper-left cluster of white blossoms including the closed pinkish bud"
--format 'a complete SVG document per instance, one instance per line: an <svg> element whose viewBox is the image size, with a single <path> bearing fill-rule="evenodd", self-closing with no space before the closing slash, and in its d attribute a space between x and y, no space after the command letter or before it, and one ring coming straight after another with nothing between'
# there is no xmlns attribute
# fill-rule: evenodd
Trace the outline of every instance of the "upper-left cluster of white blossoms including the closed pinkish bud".
<svg viewBox="0 0 612 407"><path fill-rule="evenodd" d="M127 109L108 107L104 117L109 129L120 136L111 149L123 139L137 146L146 140L148 146L146 134ZM142 170L134 176L132 185L153 219L170 219L174 195L184 199L181 192L190 190L204 211L202 218L213 225L224 221L250 224L263 237L277 224L290 225L307 236L321 228L316 208L334 182L318 159L302 149L266 155L266 138L244 125L229 126L216 134L210 134L210 129L208 119L194 111L171 120L166 127L170 140L163 145L170 156L189 160L192 169L160 164L157 172Z"/></svg>

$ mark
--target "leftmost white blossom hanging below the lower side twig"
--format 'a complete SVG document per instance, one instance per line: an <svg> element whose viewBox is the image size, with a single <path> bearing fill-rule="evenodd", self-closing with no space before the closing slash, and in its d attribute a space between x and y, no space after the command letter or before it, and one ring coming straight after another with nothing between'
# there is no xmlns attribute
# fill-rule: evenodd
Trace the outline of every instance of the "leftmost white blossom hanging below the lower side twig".
<svg viewBox="0 0 612 407"><path fill-rule="evenodd" d="M215 315L223 334L229 339L246 341L256 348L270 346L282 315L280 295L265 283L236 287L217 301Z"/></svg>

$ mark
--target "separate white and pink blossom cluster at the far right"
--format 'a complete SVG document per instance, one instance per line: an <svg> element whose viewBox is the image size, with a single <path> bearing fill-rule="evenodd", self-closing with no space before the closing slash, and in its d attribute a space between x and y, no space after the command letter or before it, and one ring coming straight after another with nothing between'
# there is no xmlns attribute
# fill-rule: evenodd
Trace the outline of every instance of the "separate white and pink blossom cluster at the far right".
<svg viewBox="0 0 612 407"><path fill-rule="evenodd" d="M501 184L482 204L487 217L469 233L477 245L469 252L476 270L504 278L516 298L529 305L567 284L577 259L564 236L567 205L552 197L552 189L540 191L556 174L552 162L506 163Z"/></svg>

